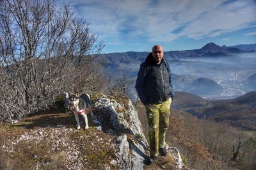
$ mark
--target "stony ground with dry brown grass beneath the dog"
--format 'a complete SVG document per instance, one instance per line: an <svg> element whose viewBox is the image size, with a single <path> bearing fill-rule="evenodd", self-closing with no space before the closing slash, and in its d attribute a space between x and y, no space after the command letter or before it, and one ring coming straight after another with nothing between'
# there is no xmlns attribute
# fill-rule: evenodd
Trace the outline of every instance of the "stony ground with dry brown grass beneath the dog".
<svg viewBox="0 0 256 170"><path fill-rule="evenodd" d="M88 130L76 130L74 116L65 113L38 114L19 123L2 124L0 169L111 166L109 162L115 158L115 136L96 130L92 123L89 125Z"/></svg>

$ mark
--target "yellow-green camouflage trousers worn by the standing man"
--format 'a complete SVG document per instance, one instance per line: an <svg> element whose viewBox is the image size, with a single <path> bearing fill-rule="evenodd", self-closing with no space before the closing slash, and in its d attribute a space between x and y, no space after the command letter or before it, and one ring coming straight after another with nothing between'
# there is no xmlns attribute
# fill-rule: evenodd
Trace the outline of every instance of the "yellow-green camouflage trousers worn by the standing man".
<svg viewBox="0 0 256 170"><path fill-rule="evenodd" d="M162 104L145 105L148 117L148 135L150 157L159 155L159 148L164 148L164 138L169 125L170 105L172 98Z"/></svg>

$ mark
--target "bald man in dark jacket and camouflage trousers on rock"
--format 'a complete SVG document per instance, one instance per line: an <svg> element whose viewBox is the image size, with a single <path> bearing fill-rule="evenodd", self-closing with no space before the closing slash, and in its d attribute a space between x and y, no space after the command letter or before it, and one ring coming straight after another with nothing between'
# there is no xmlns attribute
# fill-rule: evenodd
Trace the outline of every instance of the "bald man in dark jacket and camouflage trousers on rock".
<svg viewBox="0 0 256 170"><path fill-rule="evenodd" d="M140 65L135 86L148 117L150 157L146 164L155 162L158 155L167 155L164 137L174 95L170 67L163 56L163 47L155 45Z"/></svg>

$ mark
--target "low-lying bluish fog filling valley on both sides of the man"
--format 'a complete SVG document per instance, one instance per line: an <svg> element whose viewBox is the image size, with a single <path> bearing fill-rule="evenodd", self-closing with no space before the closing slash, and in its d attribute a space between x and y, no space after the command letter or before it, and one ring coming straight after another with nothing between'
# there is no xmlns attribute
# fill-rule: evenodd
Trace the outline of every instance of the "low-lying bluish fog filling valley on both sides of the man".
<svg viewBox="0 0 256 170"><path fill-rule="evenodd" d="M109 66L116 77L127 75L135 81L140 64L146 57L112 58ZM214 99L235 98L256 91L256 52L197 58L177 58L166 54L164 58L170 64L175 91ZM132 98L136 98L134 86L135 82L129 91Z"/></svg>

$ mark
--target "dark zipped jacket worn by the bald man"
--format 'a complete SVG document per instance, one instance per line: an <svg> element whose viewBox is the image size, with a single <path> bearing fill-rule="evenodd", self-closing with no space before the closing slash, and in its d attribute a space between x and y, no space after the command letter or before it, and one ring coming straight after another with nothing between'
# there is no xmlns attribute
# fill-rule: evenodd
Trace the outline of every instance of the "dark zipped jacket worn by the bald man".
<svg viewBox="0 0 256 170"><path fill-rule="evenodd" d="M173 95L170 67L162 59L160 65L148 54L141 63L136 81L136 91L143 104L161 104Z"/></svg>

